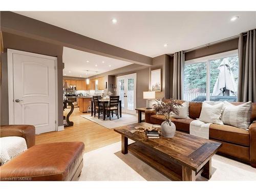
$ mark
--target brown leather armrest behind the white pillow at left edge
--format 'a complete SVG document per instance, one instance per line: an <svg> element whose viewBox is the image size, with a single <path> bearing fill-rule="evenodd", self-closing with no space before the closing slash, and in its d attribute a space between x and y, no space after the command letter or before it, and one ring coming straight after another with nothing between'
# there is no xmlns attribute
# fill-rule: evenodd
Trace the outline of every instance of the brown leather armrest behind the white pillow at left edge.
<svg viewBox="0 0 256 192"><path fill-rule="evenodd" d="M23 137L28 148L35 145L35 127L33 125L1 125L0 130L1 137Z"/></svg>

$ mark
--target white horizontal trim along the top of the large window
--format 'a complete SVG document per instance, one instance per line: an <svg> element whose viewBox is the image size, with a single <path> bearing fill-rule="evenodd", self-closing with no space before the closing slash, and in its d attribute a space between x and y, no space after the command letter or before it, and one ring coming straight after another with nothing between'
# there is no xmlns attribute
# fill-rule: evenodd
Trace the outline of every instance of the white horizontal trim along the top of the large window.
<svg viewBox="0 0 256 192"><path fill-rule="evenodd" d="M219 58L223 58L223 57L231 57L232 55L237 55L237 54L238 54L238 49L233 50L233 51L227 51L227 52L224 52L224 53L218 53L218 54L215 54L215 55L200 57L200 58L197 58L197 59L187 60L187 61L185 61L185 65L193 64L193 63L196 63L196 62L207 62L207 60L219 59Z"/></svg>

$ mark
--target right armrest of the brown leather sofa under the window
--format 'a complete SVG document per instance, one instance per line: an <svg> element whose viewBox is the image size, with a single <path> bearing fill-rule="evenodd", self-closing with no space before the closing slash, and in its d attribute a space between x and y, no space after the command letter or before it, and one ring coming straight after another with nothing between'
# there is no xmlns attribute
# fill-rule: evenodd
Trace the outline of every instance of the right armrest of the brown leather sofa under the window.
<svg viewBox="0 0 256 192"><path fill-rule="evenodd" d="M249 126L250 133L250 162L256 168L256 122Z"/></svg>

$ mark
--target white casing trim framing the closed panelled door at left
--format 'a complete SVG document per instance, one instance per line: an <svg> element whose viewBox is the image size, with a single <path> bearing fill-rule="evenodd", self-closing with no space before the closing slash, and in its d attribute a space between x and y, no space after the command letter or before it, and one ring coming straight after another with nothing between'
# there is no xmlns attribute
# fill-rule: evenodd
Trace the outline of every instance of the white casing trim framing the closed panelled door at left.
<svg viewBox="0 0 256 192"><path fill-rule="evenodd" d="M19 51L14 49L7 49L7 66L8 66L8 102L9 102L9 124L14 124L14 93L13 93L13 54L28 55L33 57L40 57L52 59L55 61L55 130L58 130L58 74L57 74L57 57L48 55L41 55L37 53L30 53L26 51Z"/></svg>

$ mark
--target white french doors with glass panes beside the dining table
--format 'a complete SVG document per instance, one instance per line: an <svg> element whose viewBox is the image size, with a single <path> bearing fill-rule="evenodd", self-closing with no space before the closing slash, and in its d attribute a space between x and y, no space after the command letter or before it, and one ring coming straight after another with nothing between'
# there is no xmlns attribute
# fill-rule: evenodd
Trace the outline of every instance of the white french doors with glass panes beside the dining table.
<svg viewBox="0 0 256 192"><path fill-rule="evenodd" d="M136 73L117 77L117 95L122 101L122 112L136 114Z"/></svg>

